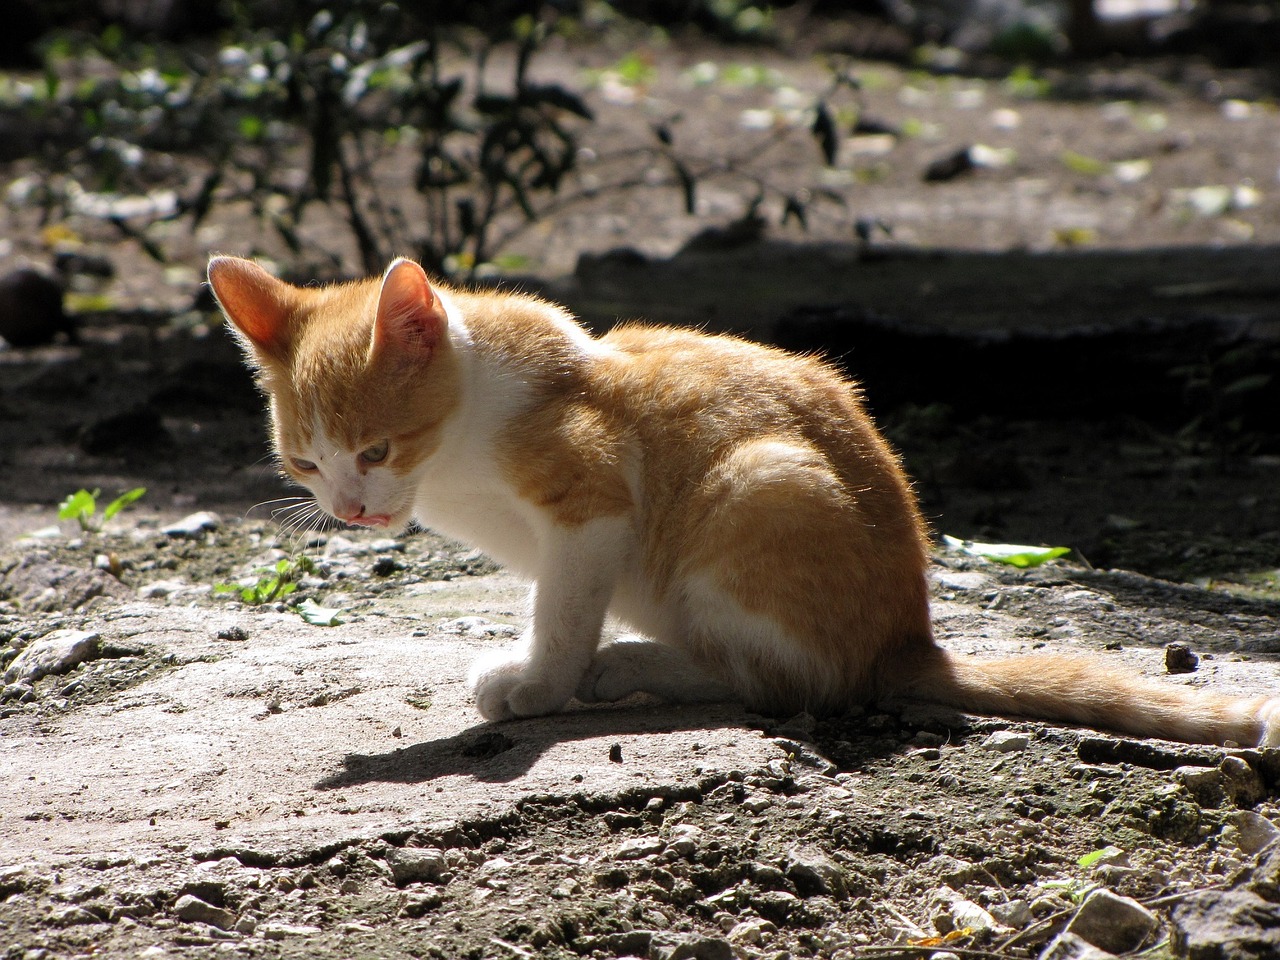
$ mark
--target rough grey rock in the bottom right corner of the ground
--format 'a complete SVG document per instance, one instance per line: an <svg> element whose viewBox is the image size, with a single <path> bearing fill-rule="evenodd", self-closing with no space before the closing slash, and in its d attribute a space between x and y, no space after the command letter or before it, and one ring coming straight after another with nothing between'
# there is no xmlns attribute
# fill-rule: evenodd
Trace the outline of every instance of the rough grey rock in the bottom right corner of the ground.
<svg viewBox="0 0 1280 960"><path fill-rule="evenodd" d="M1197 891L1174 904L1170 942L1188 960L1280 956L1280 905L1244 890Z"/></svg>

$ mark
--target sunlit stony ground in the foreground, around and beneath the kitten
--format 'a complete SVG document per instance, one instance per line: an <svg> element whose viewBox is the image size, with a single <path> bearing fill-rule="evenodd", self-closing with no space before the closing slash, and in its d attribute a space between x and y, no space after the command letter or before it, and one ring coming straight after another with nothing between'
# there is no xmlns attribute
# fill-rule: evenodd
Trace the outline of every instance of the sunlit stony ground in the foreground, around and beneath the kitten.
<svg viewBox="0 0 1280 960"><path fill-rule="evenodd" d="M1016 957L1069 922L1117 954L1276 947L1275 750L918 705L476 724L466 662L516 632L517 584L430 535L328 534L283 602L215 591L289 547L122 513L8 548L4 956ZM1280 685L1271 600L943 554L934 603L979 655Z"/></svg>

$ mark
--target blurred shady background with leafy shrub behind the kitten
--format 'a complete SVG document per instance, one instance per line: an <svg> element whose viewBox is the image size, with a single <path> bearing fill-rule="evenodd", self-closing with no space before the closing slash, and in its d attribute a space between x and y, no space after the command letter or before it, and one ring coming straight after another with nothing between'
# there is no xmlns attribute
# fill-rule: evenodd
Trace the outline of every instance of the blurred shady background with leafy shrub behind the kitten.
<svg viewBox="0 0 1280 960"><path fill-rule="evenodd" d="M0 532L279 495L210 252L831 356L934 529L1271 596L1280 4L9 0Z"/></svg>

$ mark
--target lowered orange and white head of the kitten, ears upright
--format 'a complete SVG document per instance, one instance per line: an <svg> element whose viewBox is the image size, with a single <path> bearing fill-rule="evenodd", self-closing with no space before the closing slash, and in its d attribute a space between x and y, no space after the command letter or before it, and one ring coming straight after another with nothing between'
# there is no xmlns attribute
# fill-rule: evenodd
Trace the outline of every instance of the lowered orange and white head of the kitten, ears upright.
<svg viewBox="0 0 1280 960"><path fill-rule="evenodd" d="M422 268L294 287L215 256L209 283L268 396L283 471L338 520L403 529L458 402L448 308Z"/></svg>

